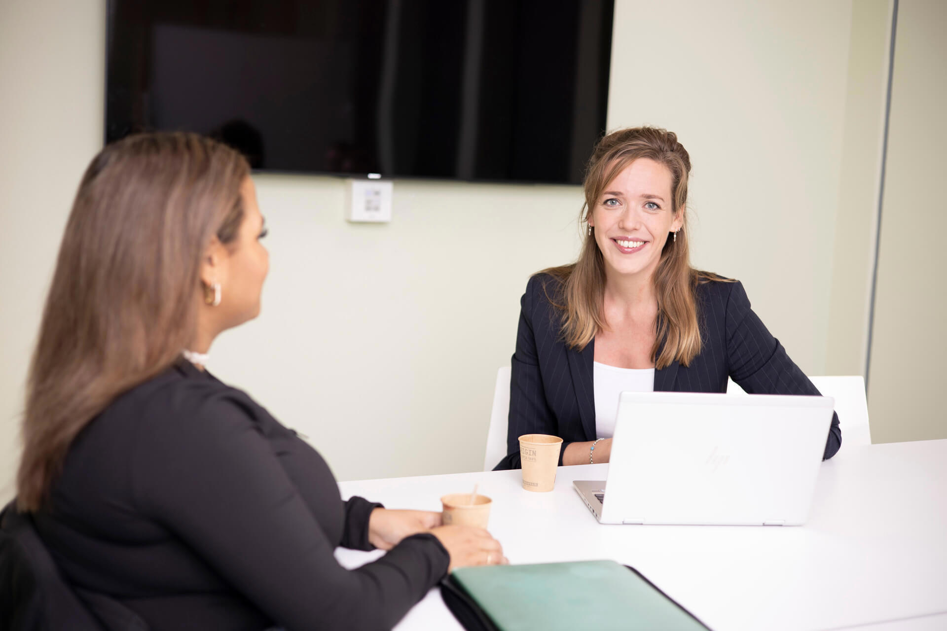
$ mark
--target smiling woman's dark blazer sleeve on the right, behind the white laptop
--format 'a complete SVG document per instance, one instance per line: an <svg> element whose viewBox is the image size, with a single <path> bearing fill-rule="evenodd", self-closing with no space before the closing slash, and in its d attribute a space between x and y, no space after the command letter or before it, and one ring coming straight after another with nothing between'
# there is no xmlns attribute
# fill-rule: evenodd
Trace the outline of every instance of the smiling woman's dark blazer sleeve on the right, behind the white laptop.
<svg viewBox="0 0 947 631"><path fill-rule="evenodd" d="M726 352L730 377L750 394L819 394L750 308L742 283L732 283L726 306ZM842 446L838 414L832 412L823 459Z"/></svg>

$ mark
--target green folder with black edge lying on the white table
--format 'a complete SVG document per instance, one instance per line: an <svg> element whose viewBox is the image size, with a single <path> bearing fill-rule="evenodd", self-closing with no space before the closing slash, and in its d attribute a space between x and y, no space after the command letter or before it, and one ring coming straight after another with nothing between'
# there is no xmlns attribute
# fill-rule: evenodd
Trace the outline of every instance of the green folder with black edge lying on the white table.
<svg viewBox="0 0 947 631"><path fill-rule="evenodd" d="M637 571L615 561L579 561L454 570L444 601L467 628L500 631L706 631L681 605ZM452 593L453 592L453 593ZM455 598L452 599L451 596ZM456 598L479 608L483 621L470 624Z"/></svg>

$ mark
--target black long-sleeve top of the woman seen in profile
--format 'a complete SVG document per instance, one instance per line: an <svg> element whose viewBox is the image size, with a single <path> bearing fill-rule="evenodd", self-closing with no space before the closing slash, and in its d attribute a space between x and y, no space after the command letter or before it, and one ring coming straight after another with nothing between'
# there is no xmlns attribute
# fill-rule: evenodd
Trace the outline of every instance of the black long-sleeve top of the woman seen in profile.
<svg viewBox="0 0 947 631"><path fill-rule="evenodd" d="M434 535L371 550L376 506L248 395L181 361L69 448L37 531L73 585L163 629L387 629L446 573Z"/></svg>

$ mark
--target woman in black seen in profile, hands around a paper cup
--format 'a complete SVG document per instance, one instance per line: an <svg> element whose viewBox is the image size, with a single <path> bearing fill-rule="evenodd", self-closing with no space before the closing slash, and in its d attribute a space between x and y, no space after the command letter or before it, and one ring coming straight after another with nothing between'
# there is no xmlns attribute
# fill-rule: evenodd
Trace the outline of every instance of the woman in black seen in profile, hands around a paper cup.
<svg viewBox="0 0 947 631"><path fill-rule="evenodd" d="M82 177L27 384L19 513L113 628L390 628L486 531L342 501L331 471L204 370L259 314L249 167L187 133L128 137ZM358 570L337 546L387 554Z"/></svg>

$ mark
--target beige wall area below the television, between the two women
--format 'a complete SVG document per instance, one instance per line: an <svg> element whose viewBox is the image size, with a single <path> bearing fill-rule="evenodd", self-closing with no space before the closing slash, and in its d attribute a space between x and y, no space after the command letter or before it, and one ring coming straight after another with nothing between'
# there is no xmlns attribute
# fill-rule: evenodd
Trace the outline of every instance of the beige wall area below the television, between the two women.
<svg viewBox="0 0 947 631"><path fill-rule="evenodd" d="M211 369L342 479L479 469L520 295L578 247L579 187L396 182L391 223L353 225L340 180L257 181L263 313Z"/></svg>

